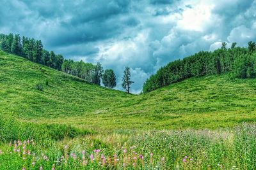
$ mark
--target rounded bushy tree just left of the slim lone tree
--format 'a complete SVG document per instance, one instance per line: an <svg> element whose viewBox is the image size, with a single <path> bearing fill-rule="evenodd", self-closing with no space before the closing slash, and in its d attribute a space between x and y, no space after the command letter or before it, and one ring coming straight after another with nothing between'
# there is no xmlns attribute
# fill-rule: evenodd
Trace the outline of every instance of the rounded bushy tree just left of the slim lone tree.
<svg viewBox="0 0 256 170"><path fill-rule="evenodd" d="M109 89L113 89L116 87L116 75L113 69L106 69L104 74L102 75L102 83L105 87Z"/></svg>

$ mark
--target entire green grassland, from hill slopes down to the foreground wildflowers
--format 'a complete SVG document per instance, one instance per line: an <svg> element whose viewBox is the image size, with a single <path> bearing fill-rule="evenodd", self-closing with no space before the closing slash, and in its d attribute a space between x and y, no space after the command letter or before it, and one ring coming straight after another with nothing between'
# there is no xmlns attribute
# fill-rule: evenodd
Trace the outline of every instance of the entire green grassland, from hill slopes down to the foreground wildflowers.
<svg viewBox="0 0 256 170"><path fill-rule="evenodd" d="M0 51L0 169L255 169L255 94L227 73L130 95Z"/></svg>

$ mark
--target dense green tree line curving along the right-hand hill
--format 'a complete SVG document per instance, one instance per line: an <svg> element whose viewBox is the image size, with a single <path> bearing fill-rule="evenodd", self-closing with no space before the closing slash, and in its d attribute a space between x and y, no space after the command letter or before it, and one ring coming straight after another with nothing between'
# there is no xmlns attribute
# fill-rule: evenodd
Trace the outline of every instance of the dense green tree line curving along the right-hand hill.
<svg viewBox="0 0 256 170"><path fill-rule="evenodd" d="M227 43L214 52L198 52L182 60L175 60L161 67L143 85L143 92L150 92L186 78L232 72L237 78L256 77L256 43L250 41L247 48Z"/></svg>

